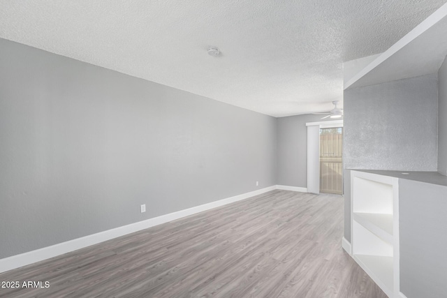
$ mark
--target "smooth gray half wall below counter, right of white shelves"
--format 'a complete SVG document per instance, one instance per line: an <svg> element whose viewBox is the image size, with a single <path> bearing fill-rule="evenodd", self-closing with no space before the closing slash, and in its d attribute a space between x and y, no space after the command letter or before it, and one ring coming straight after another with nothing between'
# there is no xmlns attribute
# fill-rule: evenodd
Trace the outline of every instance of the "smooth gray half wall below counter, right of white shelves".
<svg viewBox="0 0 447 298"><path fill-rule="evenodd" d="M399 179L400 291L446 297L447 187Z"/></svg>

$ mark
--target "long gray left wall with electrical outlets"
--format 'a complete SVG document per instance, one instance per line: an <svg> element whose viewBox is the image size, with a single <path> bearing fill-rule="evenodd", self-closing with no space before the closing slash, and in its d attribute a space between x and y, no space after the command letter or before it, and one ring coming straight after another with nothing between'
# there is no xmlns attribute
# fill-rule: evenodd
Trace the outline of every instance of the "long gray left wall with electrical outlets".
<svg viewBox="0 0 447 298"><path fill-rule="evenodd" d="M273 117L0 39L0 258L272 186L276 135Z"/></svg>

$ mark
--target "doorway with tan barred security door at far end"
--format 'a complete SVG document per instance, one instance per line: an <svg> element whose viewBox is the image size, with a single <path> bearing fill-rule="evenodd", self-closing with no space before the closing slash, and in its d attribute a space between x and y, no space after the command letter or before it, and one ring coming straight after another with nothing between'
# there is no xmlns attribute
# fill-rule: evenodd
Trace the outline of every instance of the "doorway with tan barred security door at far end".
<svg viewBox="0 0 447 298"><path fill-rule="evenodd" d="M343 128L320 128L320 191L343 193Z"/></svg>

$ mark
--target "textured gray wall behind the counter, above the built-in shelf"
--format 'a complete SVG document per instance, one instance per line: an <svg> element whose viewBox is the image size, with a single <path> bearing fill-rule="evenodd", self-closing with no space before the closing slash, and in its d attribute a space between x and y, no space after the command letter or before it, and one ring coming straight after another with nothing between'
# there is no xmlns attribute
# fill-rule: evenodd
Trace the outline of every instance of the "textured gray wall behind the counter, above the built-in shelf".
<svg viewBox="0 0 447 298"><path fill-rule="evenodd" d="M344 169L437 170L437 74L344 91ZM344 237L351 241L350 172Z"/></svg>

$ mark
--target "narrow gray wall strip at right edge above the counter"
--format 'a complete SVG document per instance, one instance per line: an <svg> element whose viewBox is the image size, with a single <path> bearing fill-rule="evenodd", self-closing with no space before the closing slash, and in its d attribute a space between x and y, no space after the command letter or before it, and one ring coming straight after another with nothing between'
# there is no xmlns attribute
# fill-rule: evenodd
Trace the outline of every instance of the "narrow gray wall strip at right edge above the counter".
<svg viewBox="0 0 447 298"><path fill-rule="evenodd" d="M438 172L447 175L447 58L438 71Z"/></svg>

